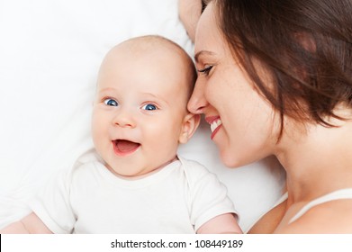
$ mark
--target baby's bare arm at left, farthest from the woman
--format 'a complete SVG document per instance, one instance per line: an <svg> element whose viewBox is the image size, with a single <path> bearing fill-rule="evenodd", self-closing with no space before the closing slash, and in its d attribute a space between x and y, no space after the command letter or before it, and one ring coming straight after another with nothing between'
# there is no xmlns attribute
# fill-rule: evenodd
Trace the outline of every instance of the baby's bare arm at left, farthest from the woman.
<svg viewBox="0 0 352 252"><path fill-rule="evenodd" d="M52 234L50 229L34 213L30 213L22 220L16 221L5 229L1 229L2 234Z"/></svg>

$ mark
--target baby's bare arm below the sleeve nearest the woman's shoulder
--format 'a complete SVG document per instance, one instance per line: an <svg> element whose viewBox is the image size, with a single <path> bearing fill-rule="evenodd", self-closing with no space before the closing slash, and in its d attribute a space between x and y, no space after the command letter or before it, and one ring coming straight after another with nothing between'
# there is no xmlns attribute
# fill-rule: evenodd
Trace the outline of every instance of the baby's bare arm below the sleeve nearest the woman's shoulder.
<svg viewBox="0 0 352 252"><path fill-rule="evenodd" d="M197 234L242 234L235 216L232 213L224 213L205 222Z"/></svg>

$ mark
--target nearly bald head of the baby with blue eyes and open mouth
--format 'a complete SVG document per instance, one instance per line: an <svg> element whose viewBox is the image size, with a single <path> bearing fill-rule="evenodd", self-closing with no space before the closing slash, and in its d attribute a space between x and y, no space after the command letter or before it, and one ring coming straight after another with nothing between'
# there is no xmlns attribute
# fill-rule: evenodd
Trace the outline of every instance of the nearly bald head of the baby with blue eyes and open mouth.
<svg viewBox="0 0 352 252"><path fill-rule="evenodd" d="M200 118L187 111L196 78L185 50L159 36L126 40L100 68L92 119L95 148L106 166L140 177L176 158Z"/></svg>

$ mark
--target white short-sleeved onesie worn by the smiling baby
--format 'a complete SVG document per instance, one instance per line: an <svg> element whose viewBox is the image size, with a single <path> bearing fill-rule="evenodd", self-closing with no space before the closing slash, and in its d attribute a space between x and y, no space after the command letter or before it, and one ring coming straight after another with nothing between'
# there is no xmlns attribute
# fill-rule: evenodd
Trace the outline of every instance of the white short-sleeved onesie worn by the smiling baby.
<svg viewBox="0 0 352 252"><path fill-rule="evenodd" d="M194 233L215 216L236 213L226 187L199 163L179 157L158 173L125 180L95 152L30 206L54 233Z"/></svg>

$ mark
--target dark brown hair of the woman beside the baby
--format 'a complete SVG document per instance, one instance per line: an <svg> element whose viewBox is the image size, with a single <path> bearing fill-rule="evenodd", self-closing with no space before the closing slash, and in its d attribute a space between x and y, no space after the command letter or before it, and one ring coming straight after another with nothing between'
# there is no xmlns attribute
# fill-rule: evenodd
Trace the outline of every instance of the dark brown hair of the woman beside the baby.
<svg viewBox="0 0 352 252"><path fill-rule="evenodd" d="M221 33L257 90L281 114L333 126L352 107L351 0L213 0ZM266 85L256 62L273 77Z"/></svg>

